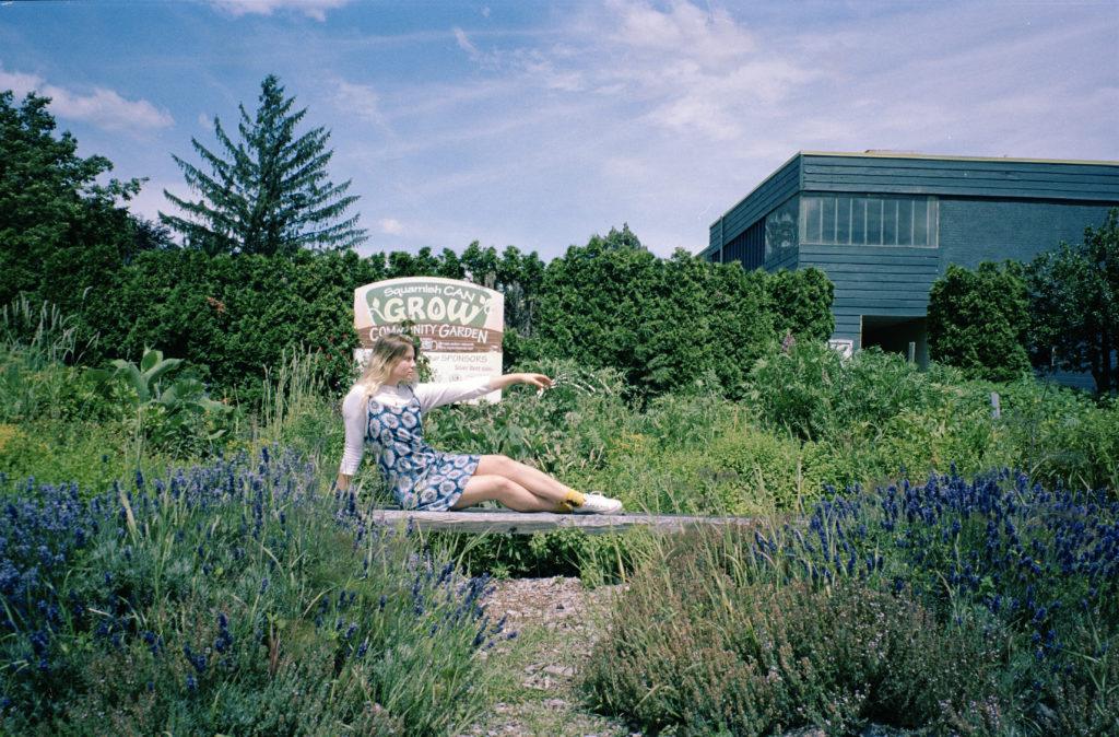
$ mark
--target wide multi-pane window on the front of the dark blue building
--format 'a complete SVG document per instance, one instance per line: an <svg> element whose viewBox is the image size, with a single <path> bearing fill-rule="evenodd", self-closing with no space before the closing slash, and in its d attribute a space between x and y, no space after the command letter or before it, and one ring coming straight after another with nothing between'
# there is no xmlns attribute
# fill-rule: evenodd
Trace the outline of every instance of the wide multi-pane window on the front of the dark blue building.
<svg viewBox="0 0 1119 737"><path fill-rule="evenodd" d="M933 197L801 197L801 243L937 245Z"/></svg>

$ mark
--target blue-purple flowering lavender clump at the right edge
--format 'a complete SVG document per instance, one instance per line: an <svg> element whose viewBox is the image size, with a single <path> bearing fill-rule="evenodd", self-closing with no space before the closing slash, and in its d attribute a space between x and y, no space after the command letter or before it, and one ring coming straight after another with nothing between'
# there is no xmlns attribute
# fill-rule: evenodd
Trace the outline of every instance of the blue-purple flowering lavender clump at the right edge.
<svg viewBox="0 0 1119 737"><path fill-rule="evenodd" d="M1088 719L1085 728L1115 698L1104 655L1119 641L1117 514L1102 491L953 474L854 489L740 554L771 580L863 580L912 597L944 626L975 619L1002 631L998 678L1016 694L1015 724L1059 734L1054 719ZM1056 696L1065 691L1092 708L1066 710Z"/></svg>

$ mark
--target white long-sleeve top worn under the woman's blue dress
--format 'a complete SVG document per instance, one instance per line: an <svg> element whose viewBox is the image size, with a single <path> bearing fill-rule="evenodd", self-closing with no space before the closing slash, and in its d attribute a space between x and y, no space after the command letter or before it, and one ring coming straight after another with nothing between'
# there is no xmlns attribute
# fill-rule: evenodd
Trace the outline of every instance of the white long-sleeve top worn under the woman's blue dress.
<svg viewBox="0 0 1119 737"><path fill-rule="evenodd" d="M420 413L443 404L453 404L476 397L482 397L493 391L489 379L464 379L445 383L414 384L411 386L382 386L373 394L382 404L404 407L412 395L420 401ZM346 428L346 445L342 448L342 463L339 474L352 476L361 465L365 456L365 428L369 398L365 388L355 385L342 400L342 425Z"/></svg>

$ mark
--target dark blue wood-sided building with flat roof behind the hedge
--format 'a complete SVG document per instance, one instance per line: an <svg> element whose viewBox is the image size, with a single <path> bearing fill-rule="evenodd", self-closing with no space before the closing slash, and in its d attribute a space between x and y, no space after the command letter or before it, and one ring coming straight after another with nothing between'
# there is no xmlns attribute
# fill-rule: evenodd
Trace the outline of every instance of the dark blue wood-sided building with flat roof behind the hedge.
<svg viewBox="0 0 1119 737"><path fill-rule="evenodd" d="M835 283L835 345L928 360L929 289L948 265L1080 243L1119 206L1119 161L793 156L711 226L703 255L747 270L816 267Z"/></svg>

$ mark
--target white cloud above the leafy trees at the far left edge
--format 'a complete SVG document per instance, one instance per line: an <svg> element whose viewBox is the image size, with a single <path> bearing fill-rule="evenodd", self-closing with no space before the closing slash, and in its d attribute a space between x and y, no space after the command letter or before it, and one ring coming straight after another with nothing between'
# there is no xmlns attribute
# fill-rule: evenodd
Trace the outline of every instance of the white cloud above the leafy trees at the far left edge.
<svg viewBox="0 0 1119 737"><path fill-rule="evenodd" d="M18 97L34 91L50 97L50 112L57 118L81 120L105 130L143 133L175 123L169 112L158 110L147 100L125 100L104 87L94 87L91 93L82 94L46 84L41 77L31 74L0 68L0 88L11 90Z"/></svg>

